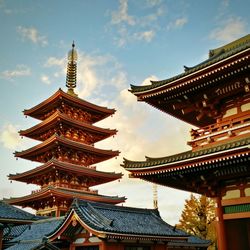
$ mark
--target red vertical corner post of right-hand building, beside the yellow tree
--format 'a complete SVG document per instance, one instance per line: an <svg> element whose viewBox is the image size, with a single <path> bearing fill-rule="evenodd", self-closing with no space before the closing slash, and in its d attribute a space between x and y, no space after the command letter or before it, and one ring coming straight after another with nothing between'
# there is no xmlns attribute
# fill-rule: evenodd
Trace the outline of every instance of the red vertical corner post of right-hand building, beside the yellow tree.
<svg viewBox="0 0 250 250"><path fill-rule="evenodd" d="M221 197L216 197L216 218L217 218L217 241L218 241L218 249L219 250L227 250L227 242L226 242L226 232L225 232L225 224L223 219L223 208L221 206Z"/></svg>

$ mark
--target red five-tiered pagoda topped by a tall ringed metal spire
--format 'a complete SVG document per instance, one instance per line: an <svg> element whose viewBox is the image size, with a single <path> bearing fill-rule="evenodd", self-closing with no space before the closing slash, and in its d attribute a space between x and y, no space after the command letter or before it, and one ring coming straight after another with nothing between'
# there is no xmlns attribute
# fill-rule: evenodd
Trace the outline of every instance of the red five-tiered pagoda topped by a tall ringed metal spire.
<svg viewBox="0 0 250 250"><path fill-rule="evenodd" d="M10 174L9 179L40 186L31 194L10 198L9 204L31 207L42 216L62 216L74 198L108 204L125 201L124 197L99 195L91 187L118 180L121 173L97 171L96 163L117 157L119 151L94 146L117 133L93 125L115 113L114 109L97 106L77 97L77 52L73 43L68 54L67 92L59 89L40 104L24 110L24 115L40 120L37 125L21 130L21 136L38 140L39 144L16 157L42 165L29 171Z"/></svg>

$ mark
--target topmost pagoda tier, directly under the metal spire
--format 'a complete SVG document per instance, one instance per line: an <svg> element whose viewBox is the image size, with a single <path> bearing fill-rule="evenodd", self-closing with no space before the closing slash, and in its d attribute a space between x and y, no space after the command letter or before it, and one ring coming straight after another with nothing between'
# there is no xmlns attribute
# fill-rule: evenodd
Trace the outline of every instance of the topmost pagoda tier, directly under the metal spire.
<svg viewBox="0 0 250 250"><path fill-rule="evenodd" d="M59 89L55 94L34 106L24 110L24 114L39 120L45 120L57 110L69 117L90 124L98 122L115 113L115 109L97 106Z"/></svg>

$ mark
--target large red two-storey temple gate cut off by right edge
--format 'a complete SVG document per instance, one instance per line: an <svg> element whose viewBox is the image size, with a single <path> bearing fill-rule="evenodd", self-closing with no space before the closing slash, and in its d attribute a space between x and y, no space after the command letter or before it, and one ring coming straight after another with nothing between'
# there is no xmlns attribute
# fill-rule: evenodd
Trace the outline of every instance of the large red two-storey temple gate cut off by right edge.
<svg viewBox="0 0 250 250"><path fill-rule="evenodd" d="M250 249L250 35L166 80L131 85L138 101L193 126L190 150L124 159L130 176L215 199L219 250ZM167 129L167 128L166 128ZM171 142L169 142L171 143Z"/></svg>

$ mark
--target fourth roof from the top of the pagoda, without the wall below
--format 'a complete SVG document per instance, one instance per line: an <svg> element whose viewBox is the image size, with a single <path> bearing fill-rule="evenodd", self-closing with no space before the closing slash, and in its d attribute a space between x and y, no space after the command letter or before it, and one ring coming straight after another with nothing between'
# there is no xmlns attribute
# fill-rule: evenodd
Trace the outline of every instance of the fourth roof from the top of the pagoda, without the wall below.
<svg viewBox="0 0 250 250"><path fill-rule="evenodd" d="M10 174L9 179L23 181L26 183L27 182L29 183L28 180L30 179L31 183L32 180L34 180L34 176L36 176L36 179L38 179L40 175L49 173L54 170L61 170L67 173L69 172L72 174L76 174L77 176L94 177L96 181L95 185L117 180L122 177L121 173L97 171L96 169L93 168L79 166L76 164L61 162L57 161L56 159L52 159L46 162L45 164L36 167L34 169L31 169L29 171L17 174Z"/></svg>

